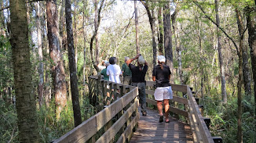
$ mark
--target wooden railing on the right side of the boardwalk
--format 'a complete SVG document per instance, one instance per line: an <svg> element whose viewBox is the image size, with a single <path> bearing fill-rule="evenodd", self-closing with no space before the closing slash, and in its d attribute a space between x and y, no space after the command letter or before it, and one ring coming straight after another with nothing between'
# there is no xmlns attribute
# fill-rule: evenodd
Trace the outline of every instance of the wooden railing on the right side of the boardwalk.
<svg viewBox="0 0 256 143"><path fill-rule="evenodd" d="M154 86L154 81L147 81L146 86L148 88L152 88ZM222 139L219 137L211 137L209 128L205 119L203 118L201 113L201 109L199 109L199 105L196 102L196 99L192 95L191 88L187 85L179 85L179 84L171 84L172 90L181 92L181 95L186 94L187 98L179 97L177 94L174 94L174 98L171 99L173 102L177 102L177 104L184 105L181 108L178 108L177 104L174 106L170 105L170 113L175 113L180 116L185 116L188 119L188 123L192 130L193 140L194 142L199 143L214 143L214 142L222 142ZM154 89L154 88L152 88ZM154 95L153 90L146 90L147 95ZM153 99L147 98L147 103L156 106L156 101ZM175 106L177 105L177 106ZM209 120L207 120L209 121Z"/></svg>

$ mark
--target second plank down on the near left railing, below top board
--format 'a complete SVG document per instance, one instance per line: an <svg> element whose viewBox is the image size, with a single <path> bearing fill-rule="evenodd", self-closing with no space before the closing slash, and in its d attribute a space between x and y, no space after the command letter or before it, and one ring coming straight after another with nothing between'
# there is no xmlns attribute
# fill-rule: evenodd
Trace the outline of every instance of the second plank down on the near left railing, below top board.
<svg viewBox="0 0 256 143"><path fill-rule="evenodd" d="M121 118L119 120L117 120L112 127L110 127L108 129L108 131L106 131L101 138L99 138L96 142L97 143L105 143L105 142L109 142L112 140L112 138L115 137L115 134L118 133L118 131L120 130L121 127L123 127L123 124L126 123L126 120L132 115L132 113L136 110L137 108L137 103L138 100L136 102L133 103L133 105L130 106L129 109L126 110L125 113L123 113L123 116L121 116Z"/></svg>

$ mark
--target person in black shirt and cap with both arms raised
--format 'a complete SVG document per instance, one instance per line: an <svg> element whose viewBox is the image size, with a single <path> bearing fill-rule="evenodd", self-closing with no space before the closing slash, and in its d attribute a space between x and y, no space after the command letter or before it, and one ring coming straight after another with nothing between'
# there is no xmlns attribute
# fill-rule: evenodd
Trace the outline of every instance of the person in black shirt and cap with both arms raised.
<svg viewBox="0 0 256 143"><path fill-rule="evenodd" d="M137 59L137 66L131 64L134 59ZM146 81L144 77L148 70L148 63L144 60L141 54L136 55L133 59L128 59L126 61L127 66L129 66L130 71L132 72L132 86L139 88L139 101L141 103L141 113L142 116L147 116L146 111Z"/></svg>

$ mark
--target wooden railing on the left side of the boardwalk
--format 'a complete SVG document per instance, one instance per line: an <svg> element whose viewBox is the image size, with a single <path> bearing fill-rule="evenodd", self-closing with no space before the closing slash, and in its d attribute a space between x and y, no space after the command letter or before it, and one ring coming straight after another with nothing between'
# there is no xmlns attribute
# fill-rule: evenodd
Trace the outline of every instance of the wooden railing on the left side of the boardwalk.
<svg viewBox="0 0 256 143"><path fill-rule="evenodd" d="M84 121L54 142L105 143L130 140L133 128L137 126L137 121L140 117L140 114L137 112L139 104L137 99L138 88L97 80L97 77L90 77L90 79L90 91L94 92L93 96L95 96L93 98L97 102L102 102L102 95L106 95L106 92L109 91L111 95L115 93L112 104L105 105L104 109L99 113L90 117L90 119ZM95 88L97 85L101 88ZM107 85L110 88L107 88ZM111 90L112 87L114 87L113 91Z"/></svg>

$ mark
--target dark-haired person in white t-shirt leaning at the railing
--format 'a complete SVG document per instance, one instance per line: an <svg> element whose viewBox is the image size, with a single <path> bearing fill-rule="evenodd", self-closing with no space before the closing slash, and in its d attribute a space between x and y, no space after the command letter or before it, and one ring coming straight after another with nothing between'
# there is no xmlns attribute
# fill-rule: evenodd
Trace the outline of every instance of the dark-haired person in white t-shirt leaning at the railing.
<svg viewBox="0 0 256 143"><path fill-rule="evenodd" d="M110 65L107 67L107 75L110 81L120 84L121 80L119 76L122 75L122 71L120 66L115 64L116 62L117 59L115 57L109 58Z"/></svg>

